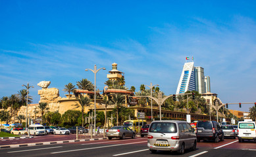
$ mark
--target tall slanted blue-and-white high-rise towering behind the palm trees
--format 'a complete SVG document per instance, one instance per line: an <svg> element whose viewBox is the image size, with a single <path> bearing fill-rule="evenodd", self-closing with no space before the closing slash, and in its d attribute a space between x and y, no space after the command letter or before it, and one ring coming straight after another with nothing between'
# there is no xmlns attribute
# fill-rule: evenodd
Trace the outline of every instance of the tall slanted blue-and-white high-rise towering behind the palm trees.
<svg viewBox="0 0 256 157"><path fill-rule="evenodd" d="M194 62L184 64L176 94L184 94L188 90L199 94L211 92L210 77L205 77L203 67L194 67Z"/></svg>

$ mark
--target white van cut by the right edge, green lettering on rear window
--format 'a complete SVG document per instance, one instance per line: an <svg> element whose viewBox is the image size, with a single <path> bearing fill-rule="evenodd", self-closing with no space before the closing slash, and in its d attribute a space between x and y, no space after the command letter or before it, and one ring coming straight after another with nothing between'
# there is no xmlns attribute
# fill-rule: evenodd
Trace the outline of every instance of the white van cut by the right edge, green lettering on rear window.
<svg viewBox="0 0 256 157"><path fill-rule="evenodd" d="M243 142L244 140L256 140L255 122L252 120L245 120L238 122L238 140Z"/></svg>

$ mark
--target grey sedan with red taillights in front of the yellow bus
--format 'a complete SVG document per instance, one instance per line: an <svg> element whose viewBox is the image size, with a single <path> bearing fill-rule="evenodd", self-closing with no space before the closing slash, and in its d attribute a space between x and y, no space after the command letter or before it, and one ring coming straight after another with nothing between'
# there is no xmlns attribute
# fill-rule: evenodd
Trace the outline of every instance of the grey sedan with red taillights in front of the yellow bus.
<svg viewBox="0 0 256 157"><path fill-rule="evenodd" d="M107 130L107 137L112 139L113 137L125 139L126 137L135 138L135 132L126 126L114 126Z"/></svg>

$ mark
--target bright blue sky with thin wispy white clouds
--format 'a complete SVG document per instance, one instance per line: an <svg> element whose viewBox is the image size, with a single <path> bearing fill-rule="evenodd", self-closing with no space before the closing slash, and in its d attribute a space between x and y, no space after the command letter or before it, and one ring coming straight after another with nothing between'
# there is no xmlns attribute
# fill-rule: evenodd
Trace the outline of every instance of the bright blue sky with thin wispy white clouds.
<svg viewBox="0 0 256 157"><path fill-rule="evenodd" d="M126 87L159 84L175 94L186 57L204 68L223 103L256 102L255 1L0 0L0 97L37 84L64 85L97 73L103 90L111 64ZM192 60L190 60L192 61ZM249 111L251 105L229 105Z"/></svg>

